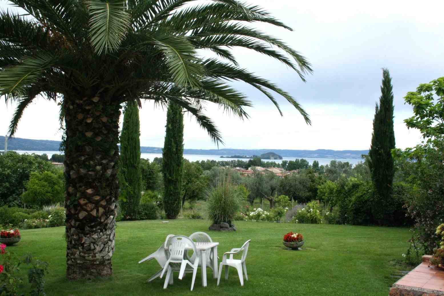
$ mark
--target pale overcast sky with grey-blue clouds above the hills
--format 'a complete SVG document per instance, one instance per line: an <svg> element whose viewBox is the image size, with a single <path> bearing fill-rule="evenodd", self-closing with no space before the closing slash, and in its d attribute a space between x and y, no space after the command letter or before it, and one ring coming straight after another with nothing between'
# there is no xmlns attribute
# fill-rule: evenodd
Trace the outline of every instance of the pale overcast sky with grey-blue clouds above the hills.
<svg viewBox="0 0 444 296"><path fill-rule="evenodd" d="M283 39L313 65L301 82L281 63L245 49L234 53L242 67L289 91L309 113L312 125L285 99L278 98L284 117L264 95L234 84L254 103L250 119L222 114L207 105L222 131L225 146L239 149L365 150L370 146L375 103L379 102L382 67L392 76L395 137L399 148L420 142L403 120L412 115L403 97L420 83L444 76L444 1L247 1L266 8L293 32L256 25ZM0 1L0 7L8 7ZM5 134L14 107L0 108L0 133ZM166 111L145 103L140 110L141 146L163 146ZM44 99L28 107L16 137L60 140L58 106ZM185 118L185 148L216 146L194 118Z"/></svg>

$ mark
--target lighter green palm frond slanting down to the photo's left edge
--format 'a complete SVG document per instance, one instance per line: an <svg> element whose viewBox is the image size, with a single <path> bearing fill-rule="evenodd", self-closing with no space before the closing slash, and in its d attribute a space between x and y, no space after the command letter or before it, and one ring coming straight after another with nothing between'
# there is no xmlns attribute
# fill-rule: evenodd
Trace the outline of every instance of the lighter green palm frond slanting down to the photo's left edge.
<svg viewBox="0 0 444 296"><path fill-rule="evenodd" d="M48 53L27 56L20 63L0 72L0 95L18 94L40 79L40 74L51 67L55 57Z"/></svg>

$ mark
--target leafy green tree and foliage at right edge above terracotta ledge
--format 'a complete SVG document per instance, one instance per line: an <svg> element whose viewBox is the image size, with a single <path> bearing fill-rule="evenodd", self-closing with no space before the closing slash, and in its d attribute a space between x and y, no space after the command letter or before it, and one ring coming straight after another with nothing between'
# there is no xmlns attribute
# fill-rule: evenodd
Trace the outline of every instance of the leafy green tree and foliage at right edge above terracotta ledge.
<svg viewBox="0 0 444 296"><path fill-rule="evenodd" d="M438 246L436 227L444 220L444 77L420 84L404 99L413 107L413 116L404 122L420 130L426 141L392 154L403 180L414 188L407 194L408 213L415 221L412 239L431 254Z"/></svg>

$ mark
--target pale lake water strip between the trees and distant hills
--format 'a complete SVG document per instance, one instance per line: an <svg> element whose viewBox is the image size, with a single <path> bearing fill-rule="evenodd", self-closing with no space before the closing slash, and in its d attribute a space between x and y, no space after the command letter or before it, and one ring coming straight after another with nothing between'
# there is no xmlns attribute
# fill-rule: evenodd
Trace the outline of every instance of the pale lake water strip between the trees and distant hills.
<svg viewBox="0 0 444 296"><path fill-rule="evenodd" d="M52 154L60 154L59 151L21 151L21 150L16 150L17 153L23 154L23 153L28 153L28 154L48 154L48 158L51 158ZM155 157L162 157L162 154L154 154L154 153L142 153L141 154L141 158L148 158L151 161L155 158ZM188 159L190 162L195 162L195 161L201 161L201 160L215 160L215 161L219 161L219 160L235 160L235 159L242 159L245 161L248 161L248 158L220 158L220 155L201 155L201 154L184 154L183 155L184 158ZM264 161L274 161L274 162L282 162L282 160L295 160L295 157L284 157L284 159L274 159L274 160L270 160L270 159L263 159ZM307 160L310 164L313 163L313 161L317 160L319 162L319 165L326 165L329 164L333 158L304 158L305 160ZM349 162L353 165L357 164L358 162L362 162L362 159L341 159L341 158L337 158L335 159L337 161L340 162Z"/></svg>

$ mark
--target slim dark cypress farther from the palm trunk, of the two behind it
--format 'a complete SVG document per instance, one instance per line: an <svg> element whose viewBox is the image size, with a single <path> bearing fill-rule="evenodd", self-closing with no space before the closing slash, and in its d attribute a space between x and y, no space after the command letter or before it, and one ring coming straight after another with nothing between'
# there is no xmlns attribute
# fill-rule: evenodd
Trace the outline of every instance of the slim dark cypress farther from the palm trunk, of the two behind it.
<svg viewBox="0 0 444 296"><path fill-rule="evenodd" d="M164 183L163 207L168 219L175 219L180 210L183 174L182 107L170 103L166 112L166 134L162 155Z"/></svg>

